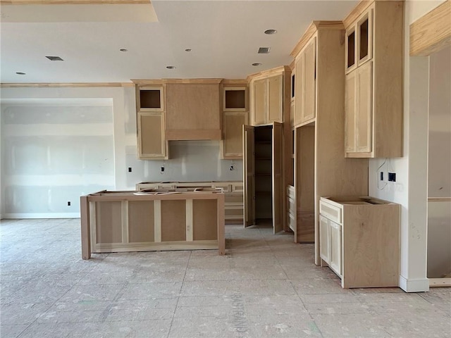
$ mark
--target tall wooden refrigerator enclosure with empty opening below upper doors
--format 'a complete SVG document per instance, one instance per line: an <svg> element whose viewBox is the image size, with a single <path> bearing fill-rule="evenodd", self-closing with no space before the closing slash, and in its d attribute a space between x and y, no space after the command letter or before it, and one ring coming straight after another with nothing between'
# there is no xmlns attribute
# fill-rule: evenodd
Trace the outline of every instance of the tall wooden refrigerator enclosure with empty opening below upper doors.
<svg viewBox="0 0 451 338"><path fill-rule="evenodd" d="M341 21L314 21L295 58L295 242L315 243L319 255L321 196L368 194L368 160L345 158L345 30Z"/></svg>

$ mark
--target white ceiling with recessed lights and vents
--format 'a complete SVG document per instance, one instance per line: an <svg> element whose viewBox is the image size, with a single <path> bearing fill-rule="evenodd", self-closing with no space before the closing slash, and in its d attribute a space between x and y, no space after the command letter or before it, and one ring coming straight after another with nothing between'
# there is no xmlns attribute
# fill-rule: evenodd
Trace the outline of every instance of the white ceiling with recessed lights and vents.
<svg viewBox="0 0 451 338"><path fill-rule="evenodd" d="M135 14L116 10L116 15L121 13L123 18L104 18L108 15L99 13L97 18L101 22L86 21L92 17L93 10L86 7L96 5L70 5L59 10L68 13L57 15L63 18L58 20L66 22L39 23L30 22L39 15L30 19L19 7L14 13L8 11L18 5L5 5L1 6L0 15L0 81L245 78L261 70L289 65L290 52L312 20L342 20L358 2L153 0L157 22L152 22L152 15L148 20L142 18L142 6L146 6L145 11L152 11L150 5L130 5L136 6ZM46 8L49 5L40 6L42 11L49 11ZM109 6L97 7L107 11ZM27 22L11 22L14 20ZM267 29L278 33L265 35ZM270 53L257 54L260 46L271 47ZM119 51L122 48L128 51ZM60 56L64 61L49 61L45 56ZM254 67L252 63L262 65ZM166 65L175 65L176 69L168 70ZM16 75L16 72L26 75Z"/></svg>

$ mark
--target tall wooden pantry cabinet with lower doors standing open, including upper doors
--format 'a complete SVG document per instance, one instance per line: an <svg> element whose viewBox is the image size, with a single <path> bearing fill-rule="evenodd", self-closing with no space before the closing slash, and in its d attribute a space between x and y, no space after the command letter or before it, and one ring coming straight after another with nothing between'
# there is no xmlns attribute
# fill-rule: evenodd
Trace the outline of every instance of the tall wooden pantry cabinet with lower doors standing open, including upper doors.
<svg viewBox="0 0 451 338"><path fill-rule="evenodd" d="M248 79L251 125L243 127L244 225L271 223L276 233L287 228L283 187L291 169L285 164L290 161L290 70L274 68Z"/></svg>

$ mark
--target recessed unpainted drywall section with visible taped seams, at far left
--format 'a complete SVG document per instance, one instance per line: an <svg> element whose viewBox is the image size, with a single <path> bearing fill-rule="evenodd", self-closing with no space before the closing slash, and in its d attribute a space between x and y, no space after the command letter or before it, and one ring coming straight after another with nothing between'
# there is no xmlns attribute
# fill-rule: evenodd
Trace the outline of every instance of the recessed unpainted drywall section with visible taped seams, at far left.
<svg viewBox="0 0 451 338"><path fill-rule="evenodd" d="M112 101L3 100L4 216L78 217L80 195L114 188Z"/></svg>

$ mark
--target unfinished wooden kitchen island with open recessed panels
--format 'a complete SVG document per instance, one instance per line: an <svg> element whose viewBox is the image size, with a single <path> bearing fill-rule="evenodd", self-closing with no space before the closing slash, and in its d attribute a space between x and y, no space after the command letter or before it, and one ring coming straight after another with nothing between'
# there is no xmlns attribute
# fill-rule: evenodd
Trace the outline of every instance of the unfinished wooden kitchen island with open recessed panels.
<svg viewBox="0 0 451 338"><path fill-rule="evenodd" d="M218 249L226 253L224 194L96 192L80 196L82 258L91 253Z"/></svg>

